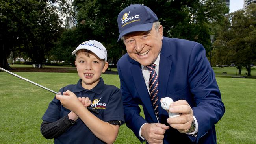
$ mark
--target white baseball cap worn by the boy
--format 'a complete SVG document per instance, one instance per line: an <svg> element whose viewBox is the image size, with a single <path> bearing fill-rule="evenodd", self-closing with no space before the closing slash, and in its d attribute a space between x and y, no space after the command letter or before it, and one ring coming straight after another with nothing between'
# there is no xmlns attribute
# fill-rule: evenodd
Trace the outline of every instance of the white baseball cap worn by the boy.
<svg viewBox="0 0 256 144"><path fill-rule="evenodd" d="M98 41L95 40L89 40L85 41L82 44L79 44L79 46L72 52L72 55L76 55L76 52L81 49L90 50L95 55L97 55L100 59L105 59L107 61L107 50L106 48Z"/></svg>

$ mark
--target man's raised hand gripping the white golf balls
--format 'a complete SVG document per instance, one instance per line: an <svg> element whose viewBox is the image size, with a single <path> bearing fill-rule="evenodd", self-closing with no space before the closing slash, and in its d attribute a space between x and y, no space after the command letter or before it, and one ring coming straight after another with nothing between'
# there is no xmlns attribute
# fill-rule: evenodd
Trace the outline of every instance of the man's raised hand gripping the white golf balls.
<svg viewBox="0 0 256 144"><path fill-rule="evenodd" d="M187 133L193 121L193 110L186 100L178 100L171 103L169 111L171 113L181 113L180 116L168 118L167 122L171 127L180 133Z"/></svg>

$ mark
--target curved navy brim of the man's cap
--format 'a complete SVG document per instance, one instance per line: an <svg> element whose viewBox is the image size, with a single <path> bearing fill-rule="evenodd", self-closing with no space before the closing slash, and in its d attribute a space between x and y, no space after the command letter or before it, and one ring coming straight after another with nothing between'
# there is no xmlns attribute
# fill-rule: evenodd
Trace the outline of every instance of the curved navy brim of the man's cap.
<svg viewBox="0 0 256 144"><path fill-rule="evenodd" d="M123 37L124 35L126 35L128 33L132 33L132 32L135 32L135 31L149 31L149 30L151 30L152 26L153 26L153 23L154 22L147 23L147 24L139 24L139 25L135 25L135 26L132 26L130 28L127 28L126 30L122 31L119 34L117 42L121 39L121 37Z"/></svg>

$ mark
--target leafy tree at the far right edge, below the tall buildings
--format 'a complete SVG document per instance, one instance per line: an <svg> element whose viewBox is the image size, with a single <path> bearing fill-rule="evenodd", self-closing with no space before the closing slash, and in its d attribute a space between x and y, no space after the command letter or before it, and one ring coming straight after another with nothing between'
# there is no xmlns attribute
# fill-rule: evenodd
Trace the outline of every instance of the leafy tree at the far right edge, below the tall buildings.
<svg viewBox="0 0 256 144"><path fill-rule="evenodd" d="M214 42L213 59L217 65L244 66L250 76L251 64L256 61L256 4L248 6L244 13L236 11L228 15Z"/></svg>

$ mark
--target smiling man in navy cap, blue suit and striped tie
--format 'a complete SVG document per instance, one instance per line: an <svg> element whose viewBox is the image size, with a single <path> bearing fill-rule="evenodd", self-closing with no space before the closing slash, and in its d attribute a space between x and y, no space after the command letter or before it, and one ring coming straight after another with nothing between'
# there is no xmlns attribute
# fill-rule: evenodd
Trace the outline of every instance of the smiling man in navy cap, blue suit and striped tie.
<svg viewBox="0 0 256 144"><path fill-rule="evenodd" d="M126 125L148 143L216 143L214 124L225 108L204 47L163 37L156 14L140 4L123 9L117 22L127 50L117 64ZM180 116L169 118L164 97Z"/></svg>

